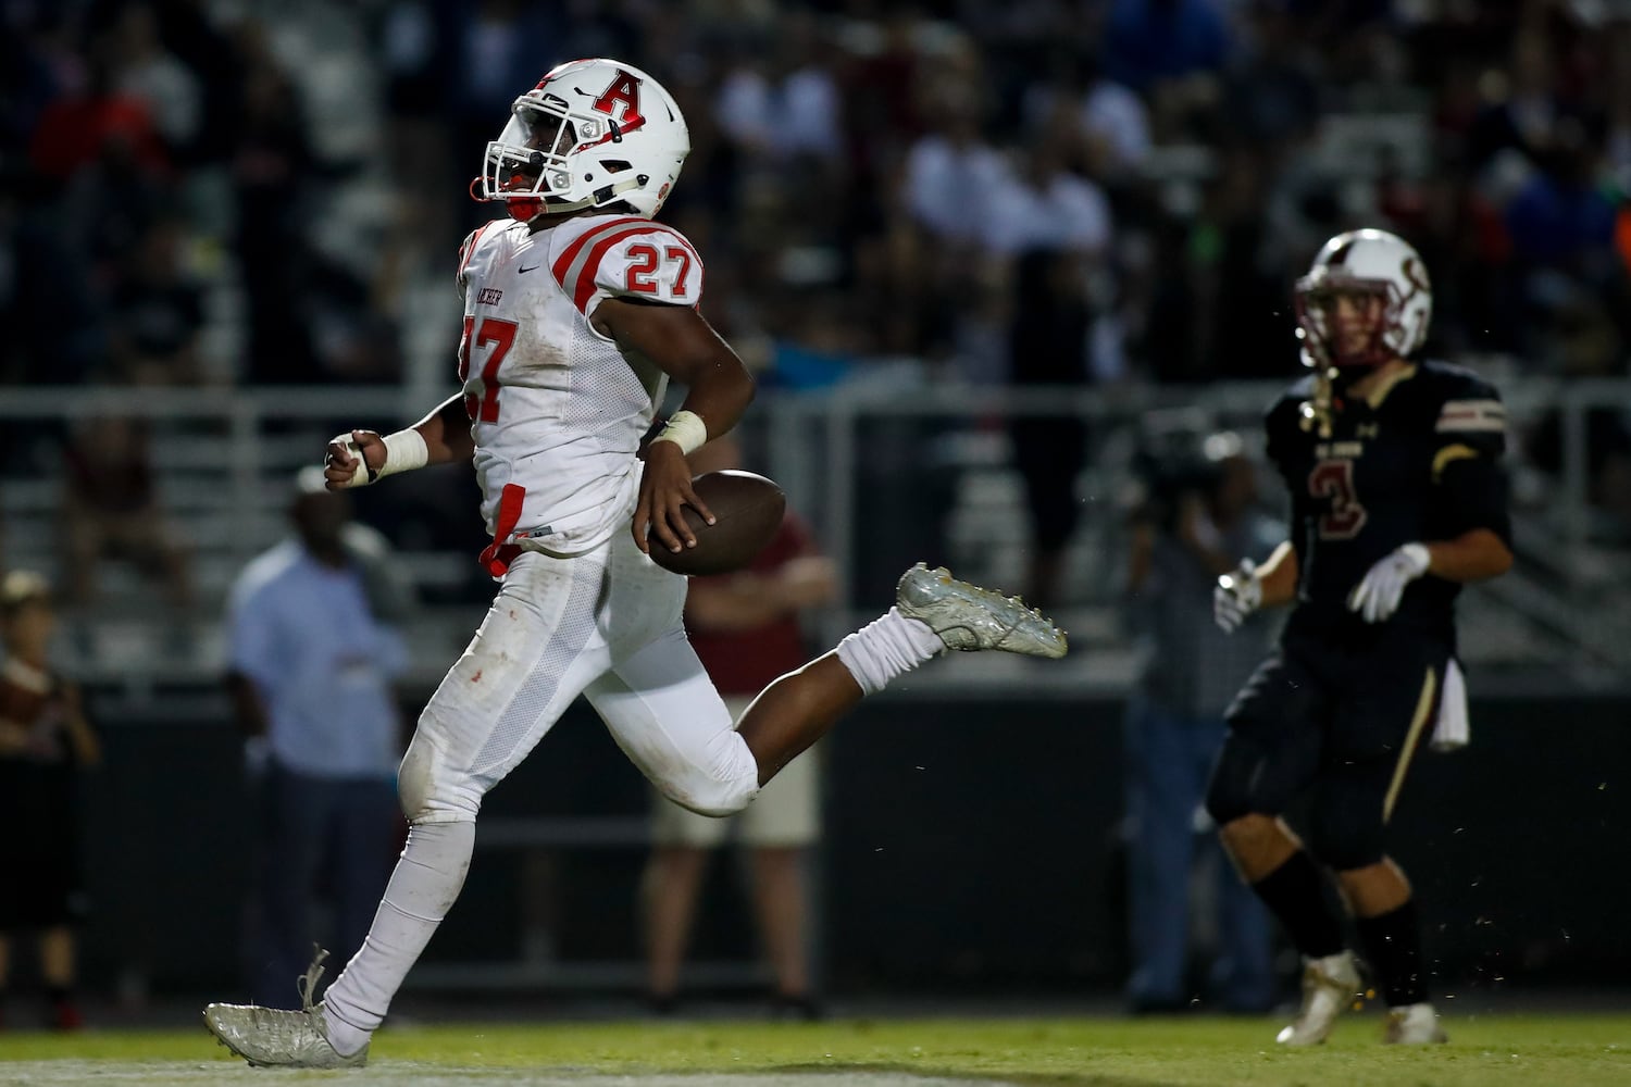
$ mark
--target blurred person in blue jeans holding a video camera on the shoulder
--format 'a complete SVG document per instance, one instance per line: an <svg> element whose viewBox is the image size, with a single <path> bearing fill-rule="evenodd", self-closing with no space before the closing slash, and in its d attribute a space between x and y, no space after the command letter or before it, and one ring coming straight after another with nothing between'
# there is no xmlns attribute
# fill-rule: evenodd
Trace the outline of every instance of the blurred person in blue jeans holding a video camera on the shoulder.
<svg viewBox="0 0 1631 1087"><path fill-rule="evenodd" d="M1284 538L1284 528L1258 510L1253 463L1236 435L1210 435L1199 458L1158 458L1150 471L1129 567L1130 603L1145 642L1127 711L1127 997L1134 1012L1191 1007L1191 869L1197 857L1213 869L1209 996L1233 1012L1266 1012L1274 1002L1269 916L1209 833L1202 799L1223 743L1223 711L1267 652L1271 634L1261 619L1233 637L1207 623L1212 587L1235 569L1233 556L1262 554ZM1240 642L1241 634L1249 637Z"/></svg>

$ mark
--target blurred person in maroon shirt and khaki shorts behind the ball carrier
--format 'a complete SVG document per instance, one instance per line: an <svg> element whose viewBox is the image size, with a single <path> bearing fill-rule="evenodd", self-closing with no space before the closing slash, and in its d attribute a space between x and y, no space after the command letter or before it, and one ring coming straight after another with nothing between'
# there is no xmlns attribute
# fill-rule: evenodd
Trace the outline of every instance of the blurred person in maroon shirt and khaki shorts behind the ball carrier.
<svg viewBox="0 0 1631 1087"><path fill-rule="evenodd" d="M690 456L696 473L740 466L731 437ZM799 614L829 603L832 564L817 556L809 530L788 515L752 567L693 577L685 626L703 667L732 717L776 676L802 667L807 654ZM809 976L809 887L804 864L820 834L819 750L806 751L765 786L740 815L695 815L652 790L654 851L646 864L648 992L657 1012L675 1007L680 962L690 939L708 852L734 830L752 849L754 914L775 975L778 1010L814 1019Z"/></svg>

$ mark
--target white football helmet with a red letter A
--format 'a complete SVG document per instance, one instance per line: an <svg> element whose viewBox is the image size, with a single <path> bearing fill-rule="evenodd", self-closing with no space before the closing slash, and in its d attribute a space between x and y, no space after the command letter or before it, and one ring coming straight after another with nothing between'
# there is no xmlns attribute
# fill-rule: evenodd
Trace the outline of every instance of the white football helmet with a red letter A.
<svg viewBox="0 0 1631 1087"><path fill-rule="evenodd" d="M571 60L511 106L488 143L478 199L507 200L525 212L517 218L617 202L651 218L690 152L685 117L661 83L618 60Z"/></svg>

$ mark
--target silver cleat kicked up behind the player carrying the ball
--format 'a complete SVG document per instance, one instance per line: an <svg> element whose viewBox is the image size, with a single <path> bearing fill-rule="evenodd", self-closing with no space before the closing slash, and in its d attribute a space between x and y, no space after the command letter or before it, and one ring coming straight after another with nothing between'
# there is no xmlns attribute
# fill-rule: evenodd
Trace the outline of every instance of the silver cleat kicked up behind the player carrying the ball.
<svg viewBox="0 0 1631 1087"><path fill-rule="evenodd" d="M931 570L918 562L902 574L895 608L928 624L946 649L966 654L995 649L1057 660L1068 649L1065 632L1041 611L1018 596L959 582L946 567Z"/></svg>

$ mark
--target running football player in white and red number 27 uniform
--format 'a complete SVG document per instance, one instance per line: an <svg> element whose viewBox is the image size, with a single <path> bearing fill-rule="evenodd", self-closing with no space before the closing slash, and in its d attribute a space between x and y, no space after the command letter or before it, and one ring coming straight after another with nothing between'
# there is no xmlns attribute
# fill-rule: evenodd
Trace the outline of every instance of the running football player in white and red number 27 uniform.
<svg viewBox="0 0 1631 1087"><path fill-rule="evenodd" d="M1065 637L1018 600L922 564L897 603L767 688L732 722L685 639L685 579L656 566L695 538L685 455L736 425L754 383L696 311L703 264L651 222L690 152L644 72L574 60L515 99L486 147L480 194L509 205L465 241L463 389L414 427L328 447L331 487L473 460L502 583L419 717L400 794L409 834L364 947L302 1010L210 1004L204 1020L251 1064L359 1066L391 996L458 896L481 799L584 694L672 800L739 812L864 694L948 650L1062 657ZM664 388L678 412L638 458ZM711 518L709 518L711 520Z"/></svg>

